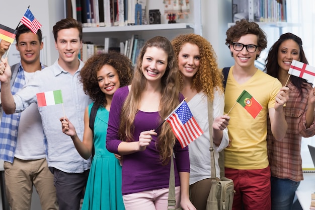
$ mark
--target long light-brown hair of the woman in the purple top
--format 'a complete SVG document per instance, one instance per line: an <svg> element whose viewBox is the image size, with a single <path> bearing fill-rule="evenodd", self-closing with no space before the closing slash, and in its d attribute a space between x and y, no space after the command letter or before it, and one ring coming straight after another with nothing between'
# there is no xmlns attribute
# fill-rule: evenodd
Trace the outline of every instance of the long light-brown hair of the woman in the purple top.
<svg viewBox="0 0 315 210"><path fill-rule="evenodd" d="M141 65L144 53L148 47L156 47L164 50L168 54L168 64L166 72L161 80L161 101L160 111L161 122L177 107L179 101L179 80L178 80L178 64L171 42L161 36L149 39L142 47L137 58L134 69L134 76L131 81L131 89L123 104L119 137L122 141L132 142L134 132L134 118L138 111L141 101L141 94L146 86L146 79L142 73ZM172 132L169 123L164 123L159 131L156 148L160 153L161 162L165 165L170 160L175 144L175 135Z"/></svg>

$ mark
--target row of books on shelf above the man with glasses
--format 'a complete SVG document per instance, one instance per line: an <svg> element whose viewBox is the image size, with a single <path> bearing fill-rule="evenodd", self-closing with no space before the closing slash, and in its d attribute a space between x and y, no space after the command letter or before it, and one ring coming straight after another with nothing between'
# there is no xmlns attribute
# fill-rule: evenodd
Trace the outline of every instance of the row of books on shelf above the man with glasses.
<svg viewBox="0 0 315 210"><path fill-rule="evenodd" d="M286 22L286 0L232 0L233 22Z"/></svg>

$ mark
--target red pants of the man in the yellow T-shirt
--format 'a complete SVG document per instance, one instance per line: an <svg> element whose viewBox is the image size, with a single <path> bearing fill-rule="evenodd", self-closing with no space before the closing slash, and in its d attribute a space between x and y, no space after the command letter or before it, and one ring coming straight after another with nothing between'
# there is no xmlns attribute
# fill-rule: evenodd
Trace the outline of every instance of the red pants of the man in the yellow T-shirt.
<svg viewBox="0 0 315 210"><path fill-rule="evenodd" d="M234 182L232 210L270 210L270 168L237 170L225 168L225 176Z"/></svg>

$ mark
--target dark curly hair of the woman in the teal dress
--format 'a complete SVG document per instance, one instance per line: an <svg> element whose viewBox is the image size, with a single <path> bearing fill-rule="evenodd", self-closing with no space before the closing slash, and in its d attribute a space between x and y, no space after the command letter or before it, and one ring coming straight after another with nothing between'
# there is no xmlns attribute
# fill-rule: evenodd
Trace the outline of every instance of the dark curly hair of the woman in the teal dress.
<svg viewBox="0 0 315 210"><path fill-rule="evenodd" d="M84 92L90 96L92 101L98 106L106 106L105 93L99 87L97 72L108 64L113 66L119 76L120 87L129 85L132 77L132 62L119 52L96 54L90 57L81 69L79 80L83 84Z"/></svg>

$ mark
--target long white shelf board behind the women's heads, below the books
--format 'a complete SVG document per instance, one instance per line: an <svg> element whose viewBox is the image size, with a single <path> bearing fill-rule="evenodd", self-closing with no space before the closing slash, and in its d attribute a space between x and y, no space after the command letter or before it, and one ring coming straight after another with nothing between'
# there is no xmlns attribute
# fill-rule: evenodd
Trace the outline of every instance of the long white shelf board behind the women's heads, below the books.
<svg viewBox="0 0 315 210"><path fill-rule="evenodd" d="M119 31L149 31L149 30L172 30L193 28L190 23L172 23L172 24L151 24L134 26L111 26L111 27L84 27L83 33L95 32L119 32Z"/></svg>

